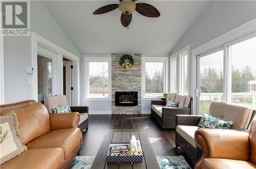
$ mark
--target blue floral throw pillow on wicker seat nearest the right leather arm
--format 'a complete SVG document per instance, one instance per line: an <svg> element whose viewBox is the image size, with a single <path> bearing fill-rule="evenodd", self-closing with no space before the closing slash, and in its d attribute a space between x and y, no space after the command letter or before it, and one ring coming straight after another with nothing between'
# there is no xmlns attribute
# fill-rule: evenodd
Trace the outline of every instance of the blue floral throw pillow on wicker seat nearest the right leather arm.
<svg viewBox="0 0 256 169"><path fill-rule="evenodd" d="M207 112L204 112L202 118L200 119L200 122L198 123L198 126L209 129L230 129L232 124L233 122L231 121L222 120L208 114Z"/></svg>

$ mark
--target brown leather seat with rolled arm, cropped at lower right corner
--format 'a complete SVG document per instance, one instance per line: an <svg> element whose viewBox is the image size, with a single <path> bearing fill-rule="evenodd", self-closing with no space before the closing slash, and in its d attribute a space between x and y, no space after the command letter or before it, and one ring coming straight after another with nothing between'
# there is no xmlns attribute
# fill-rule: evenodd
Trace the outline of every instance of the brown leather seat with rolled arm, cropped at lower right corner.
<svg viewBox="0 0 256 169"><path fill-rule="evenodd" d="M249 133L235 130L203 130L195 133L202 157L195 168L256 168L256 119Z"/></svg>

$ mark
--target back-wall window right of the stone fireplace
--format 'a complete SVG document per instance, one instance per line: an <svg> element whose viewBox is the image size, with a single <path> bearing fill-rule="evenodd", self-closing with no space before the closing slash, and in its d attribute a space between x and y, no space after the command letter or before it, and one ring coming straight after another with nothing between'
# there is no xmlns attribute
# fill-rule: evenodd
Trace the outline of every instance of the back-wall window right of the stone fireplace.
<svg viewBox="0 0 256 169"><path fill-rule="evenodd" d="M142 58L142 95L159 98L166 90L166 62L168 58Z"/></svg>

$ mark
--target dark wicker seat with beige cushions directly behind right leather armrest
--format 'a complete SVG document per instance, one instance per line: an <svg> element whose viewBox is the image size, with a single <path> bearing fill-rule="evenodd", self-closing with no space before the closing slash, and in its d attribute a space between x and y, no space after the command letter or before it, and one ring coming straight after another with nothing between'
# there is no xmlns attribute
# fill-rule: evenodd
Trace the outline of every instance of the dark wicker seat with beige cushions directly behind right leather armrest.
<svg viewBox="0 0 256 169"><path fill-rule="evenodd" d="M251 108L233 105L224 102L211 102L209 114L221 119L231 120L234 124L230 129L246 131L256 111ZM197 147L195 132L202 116L176 115L176 147L180 147L195 164L202 156L202 151Z"/></svg>

